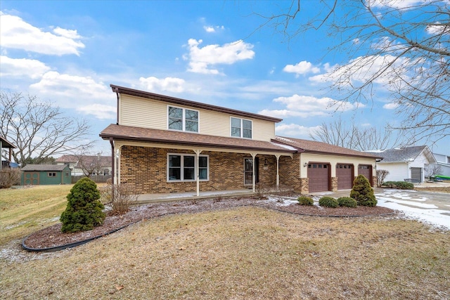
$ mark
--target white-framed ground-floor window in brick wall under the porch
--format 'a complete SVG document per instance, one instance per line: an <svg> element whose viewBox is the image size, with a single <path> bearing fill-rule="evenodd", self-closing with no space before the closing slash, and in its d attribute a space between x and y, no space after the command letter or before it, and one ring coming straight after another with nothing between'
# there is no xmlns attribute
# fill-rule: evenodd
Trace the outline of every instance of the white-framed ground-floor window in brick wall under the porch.
<svg viewBox="0 0 450 300"><path fill-rule="evenodd" d="M209 157L198 157L198 174L200 181L209 180ZM167 155L167 181L195 181L196 174L195 155L173 154Z"/></svg>

